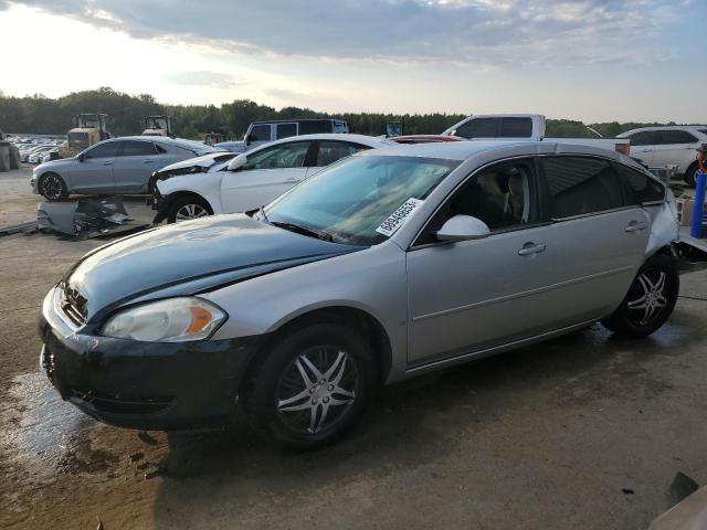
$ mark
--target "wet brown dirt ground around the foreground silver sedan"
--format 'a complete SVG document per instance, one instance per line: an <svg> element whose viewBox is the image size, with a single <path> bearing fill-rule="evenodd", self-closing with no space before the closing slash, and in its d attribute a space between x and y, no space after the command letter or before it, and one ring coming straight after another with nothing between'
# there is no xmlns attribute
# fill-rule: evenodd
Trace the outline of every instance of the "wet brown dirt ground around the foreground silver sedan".
<svg viewBox="0 0 707 530"><path fill-rule="evenodd" d="M33 218L27 179L0 177L0 224ZM707 272L652 338L597 325L387 388L342 443L293 455L242 424L140 437L59 400L36 314L101 243L0 239L2 528L642 529L676 471L707 483Z"/></svg>

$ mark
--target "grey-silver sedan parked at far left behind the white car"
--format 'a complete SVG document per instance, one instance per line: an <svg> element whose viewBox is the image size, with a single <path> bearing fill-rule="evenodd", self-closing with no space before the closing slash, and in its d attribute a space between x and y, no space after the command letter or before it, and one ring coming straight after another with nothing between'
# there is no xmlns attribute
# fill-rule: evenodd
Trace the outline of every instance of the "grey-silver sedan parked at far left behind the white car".
<svg viewBox="0 0 707 530"><path fill-rule="evenodd" d="M220 149L196 141L126 136L99 141L74 158L52 160L32 173L32 190L50 201L72 193L151 193L152 172Z"/></svg>

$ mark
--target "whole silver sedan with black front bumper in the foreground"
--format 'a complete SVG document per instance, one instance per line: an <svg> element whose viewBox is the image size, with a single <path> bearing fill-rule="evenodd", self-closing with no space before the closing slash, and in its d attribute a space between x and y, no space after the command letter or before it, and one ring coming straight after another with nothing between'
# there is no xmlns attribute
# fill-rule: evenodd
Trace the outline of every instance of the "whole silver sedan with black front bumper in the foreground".
<svg viewBox="0 0 707 530"><path fill-rule="evenodd" d="M677 237L669 190L616 152L372 149L251 214L86 255L44 300L41 362L110 424L219 425L242 406L306 449L351 427L377 384L597 320L652 333L677 299Z"/></svg>

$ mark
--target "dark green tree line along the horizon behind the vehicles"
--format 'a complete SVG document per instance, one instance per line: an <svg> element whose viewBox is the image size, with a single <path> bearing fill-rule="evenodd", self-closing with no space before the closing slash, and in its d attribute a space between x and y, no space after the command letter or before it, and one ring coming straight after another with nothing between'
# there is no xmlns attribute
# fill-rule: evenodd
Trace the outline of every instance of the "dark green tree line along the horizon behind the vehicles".
<svg viewBox="0 0 707 530"><path fill-rule="evenodd" d="M141 118L149 115L172 116L175 132L182 138L199 139L207 132L221 132L230 139L241 139L252 121L261 119L338 118L349 124L351 132L384 135L386 124L402 121L403 132L439 134L465 117L463 114L329 114L310 108L276 109L250 99L235 99L215 105L163 105L149 94L137 96L109 87L73 92L50 98L41 94L24 97L7 96L0 92L0 129L17 134L62 135L73 127L73 116L80 113L104 113L109 116L108 130L114 136L139 135ZM635 127L674 124L640 124L618 121L590 124L604 137L616 136ZM592 137L582 121L548 119L547 136Z"/></svg>

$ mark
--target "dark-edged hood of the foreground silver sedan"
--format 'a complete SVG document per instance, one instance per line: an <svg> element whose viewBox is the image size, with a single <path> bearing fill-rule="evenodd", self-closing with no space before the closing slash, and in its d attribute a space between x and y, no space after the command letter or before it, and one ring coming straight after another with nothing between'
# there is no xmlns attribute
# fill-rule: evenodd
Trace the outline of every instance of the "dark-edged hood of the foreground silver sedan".
<svg viewBox="0 0 707 530"><path fill-rule="evenodd" d="M88 324L126 304L214 290L366 247L330 243L244 214L204 218L125 237L86 254L60 286Z"/></svg>

